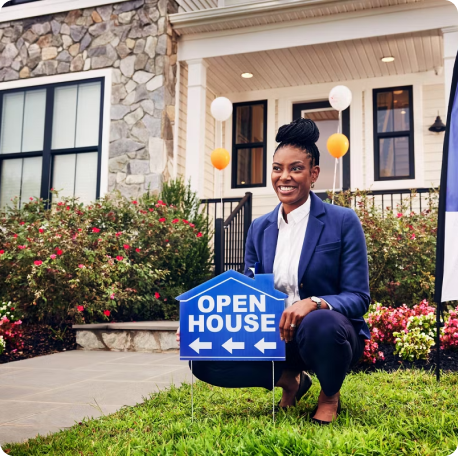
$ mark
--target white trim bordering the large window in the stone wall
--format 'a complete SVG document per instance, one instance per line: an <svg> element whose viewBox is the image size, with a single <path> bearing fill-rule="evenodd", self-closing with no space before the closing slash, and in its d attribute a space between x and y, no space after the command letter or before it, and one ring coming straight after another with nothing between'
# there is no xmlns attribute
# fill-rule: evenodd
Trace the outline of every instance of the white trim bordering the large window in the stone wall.
<svg viewBox="0 0 458 456"><path fill-rule="evenodd" d="M111 122L111 69L86 71L84 73L67 73L56 76L43 76L40 78L21 79L19 81L9 81L0 83L0 91L37 87L41 85L59 84L67 82L77 82L86 79L100 79L103 84L103 111L102 116L102 141L101 141L101 162L100 162L100 185L98 194L103 197L108 193L108 154L110 148L110 122Z"/></svg>

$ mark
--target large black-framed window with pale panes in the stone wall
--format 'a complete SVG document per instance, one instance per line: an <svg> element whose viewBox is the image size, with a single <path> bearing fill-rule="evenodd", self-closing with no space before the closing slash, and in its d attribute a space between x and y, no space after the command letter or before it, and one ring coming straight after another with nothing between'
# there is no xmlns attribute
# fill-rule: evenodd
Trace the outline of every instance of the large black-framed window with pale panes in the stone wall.
<svg viewBox="0 0 458 456"><path fill-rule="evenodd" d="M0 94L0 207L29 198L99 197L101 79Z"/></svg>

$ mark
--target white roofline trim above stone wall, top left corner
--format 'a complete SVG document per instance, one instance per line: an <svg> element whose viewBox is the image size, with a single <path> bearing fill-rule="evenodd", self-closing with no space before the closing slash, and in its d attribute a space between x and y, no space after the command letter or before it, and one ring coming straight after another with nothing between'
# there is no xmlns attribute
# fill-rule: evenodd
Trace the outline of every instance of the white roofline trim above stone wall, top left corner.
<svg viewBox="0 0 458 456"><path fill-rule="evenodd" d="M29 17L45 16L83 8L112 5L125 0L41 0L22 5L7 6L0 9L0 23L17 21Z"/></svg>

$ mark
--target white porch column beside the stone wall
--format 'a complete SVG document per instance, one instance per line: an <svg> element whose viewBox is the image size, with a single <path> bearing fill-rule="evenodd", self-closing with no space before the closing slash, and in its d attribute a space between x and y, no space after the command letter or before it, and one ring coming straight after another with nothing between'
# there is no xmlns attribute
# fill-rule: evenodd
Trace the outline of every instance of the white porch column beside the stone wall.
<svg viewBox="0 0 458 456"><path fill-rule="evenodd" d="M202 197L205 164L205 107L207 67L204 59L188 60L188 102L186 125L186 182Z"/></svg>

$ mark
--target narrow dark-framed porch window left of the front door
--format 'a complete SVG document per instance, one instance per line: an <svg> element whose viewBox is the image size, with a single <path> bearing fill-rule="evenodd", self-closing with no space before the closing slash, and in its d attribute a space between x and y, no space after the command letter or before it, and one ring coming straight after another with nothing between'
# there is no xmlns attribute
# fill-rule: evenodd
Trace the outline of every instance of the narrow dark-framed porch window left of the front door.
<svg viewBox="0 0 458 456"><path fill-rule="evenodd" d="M234 104L232 188L266 186L267 101Z"/></svg>

